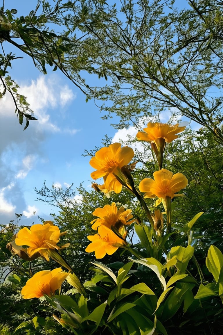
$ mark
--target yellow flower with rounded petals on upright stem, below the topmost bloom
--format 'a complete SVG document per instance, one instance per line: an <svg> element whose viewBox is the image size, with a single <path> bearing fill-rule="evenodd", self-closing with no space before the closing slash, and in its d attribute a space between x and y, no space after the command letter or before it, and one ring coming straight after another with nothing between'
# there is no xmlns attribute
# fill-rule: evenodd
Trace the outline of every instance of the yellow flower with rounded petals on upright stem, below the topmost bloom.
<svg viewBox="0 0 223 335"><path fill-rule="evenodd" d="M145 192L144 198L170 197L172 199L180 196L176 192L179 192L188 184L187 178L182 173L173 175L172 172L166 169L154 172L153 177L154 180L145 178L139 183L139 191Z"/></svg>

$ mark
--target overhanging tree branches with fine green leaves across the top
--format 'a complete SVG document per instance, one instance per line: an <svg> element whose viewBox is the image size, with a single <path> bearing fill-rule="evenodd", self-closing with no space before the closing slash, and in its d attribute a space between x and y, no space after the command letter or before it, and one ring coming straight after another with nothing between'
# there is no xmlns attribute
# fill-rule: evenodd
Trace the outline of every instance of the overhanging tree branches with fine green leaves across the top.
<svg viewBox="0 0 223 335"><path fill-rule="evenodd" d="M207 127L222 143L222 3L188 0L184 5L39 0L20 18L15 9L2 8L2 46L13 44L43 73L46 65L60 69L87 99L111 100L100 108L120 117L117 127L170 109ZM16 56L1 57L2 94L8 89L14 95L5 74ZM105 81L91 86L85 73ZM17 112L20 123L22 116L29 118L22 109Z"/></svg>

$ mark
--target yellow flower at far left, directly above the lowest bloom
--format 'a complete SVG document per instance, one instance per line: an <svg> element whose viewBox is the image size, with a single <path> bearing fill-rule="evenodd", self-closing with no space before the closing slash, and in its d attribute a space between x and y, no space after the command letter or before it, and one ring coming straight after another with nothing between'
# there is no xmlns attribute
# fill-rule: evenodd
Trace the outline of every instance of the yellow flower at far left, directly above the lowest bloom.
<svg viewBox="0 0 223 335"><path fill-rule="evenodd" d="M50 221L51 222L51 221ZM28 246L27 254L29 257L39 253L47 261L49 256L48 249L60 249L57 243L60 241L60 229L50 223L34 224L30 229L24 227L17 233L15 244L17 246Z"/></svg>

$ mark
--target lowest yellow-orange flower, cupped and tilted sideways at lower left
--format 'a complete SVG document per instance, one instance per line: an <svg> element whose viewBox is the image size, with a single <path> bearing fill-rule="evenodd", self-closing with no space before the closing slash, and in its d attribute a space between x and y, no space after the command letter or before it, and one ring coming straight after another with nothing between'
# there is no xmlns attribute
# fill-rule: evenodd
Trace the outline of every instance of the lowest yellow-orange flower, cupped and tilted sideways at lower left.
<svg viewBox="0 0 223 335"><path fill-rule="evenodd" d="M62 272L62 268L36 272L21 290L23 298L39 298L44 294L54 295L55 290L61 287L62 282L68 275L69 273Z"/></svg>

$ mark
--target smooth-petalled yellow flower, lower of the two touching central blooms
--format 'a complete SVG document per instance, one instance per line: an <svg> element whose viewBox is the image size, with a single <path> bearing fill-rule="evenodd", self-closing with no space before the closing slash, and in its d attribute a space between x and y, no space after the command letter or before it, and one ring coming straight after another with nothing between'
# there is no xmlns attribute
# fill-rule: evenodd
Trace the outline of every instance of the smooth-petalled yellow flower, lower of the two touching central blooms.
<svg viewBox="0 0 223 335"><path fill-rule="evenodd" d="M124 236L125 234L123 235L123 238ZM94 251L96 258L103 258L106 254L112 255L119 247L127 244L115 235L111 229L104 225L98 227L98 234L89 235L88 240L92 243L87 246L85 251Z"/></svg>

